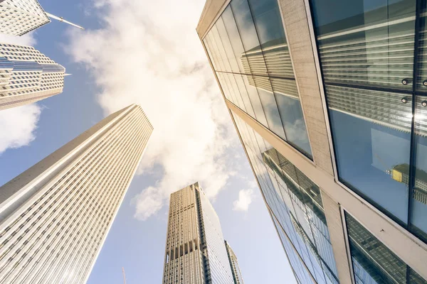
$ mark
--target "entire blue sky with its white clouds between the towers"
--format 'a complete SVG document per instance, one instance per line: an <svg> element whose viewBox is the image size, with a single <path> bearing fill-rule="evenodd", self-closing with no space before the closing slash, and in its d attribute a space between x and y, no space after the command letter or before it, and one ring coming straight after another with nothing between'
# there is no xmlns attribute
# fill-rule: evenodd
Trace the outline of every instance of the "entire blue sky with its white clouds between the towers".
<svg viewBox="0 0 427 284"><path fill-rule="evenodd" d="M127 283L161 283L169 194L196 181L245 283L295 283L196 35L204 0L40 3L86 30L53 21L25 38L0 35L73 74L62 94L1 111L0 185L133 102L154 126L88 283L121 283L122 267Z"/></svg>

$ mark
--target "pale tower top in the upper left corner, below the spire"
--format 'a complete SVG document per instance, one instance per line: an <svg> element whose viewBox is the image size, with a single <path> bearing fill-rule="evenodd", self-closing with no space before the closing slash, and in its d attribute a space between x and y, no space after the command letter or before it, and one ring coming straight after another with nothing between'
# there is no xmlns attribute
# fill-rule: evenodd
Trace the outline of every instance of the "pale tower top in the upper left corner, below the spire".
<svg viewBox="0 0 427 284"><path fill-rule="evenodd" d="M37 0L0 1L0 33L24 35L50 23Z"/></svg>

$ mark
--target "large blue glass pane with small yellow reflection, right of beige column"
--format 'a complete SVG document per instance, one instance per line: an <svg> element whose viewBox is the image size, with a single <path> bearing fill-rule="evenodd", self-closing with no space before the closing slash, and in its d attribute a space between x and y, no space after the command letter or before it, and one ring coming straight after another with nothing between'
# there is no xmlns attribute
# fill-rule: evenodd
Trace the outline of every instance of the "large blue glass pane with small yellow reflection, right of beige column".
<svg viewBox="0 0 427 284"><path fill-rule="evenodd" d="M325 90L339 180L406 222L408 184L394 174L397 165L409 164L411 106L401 103L405 95L328 85Z"/></svg>

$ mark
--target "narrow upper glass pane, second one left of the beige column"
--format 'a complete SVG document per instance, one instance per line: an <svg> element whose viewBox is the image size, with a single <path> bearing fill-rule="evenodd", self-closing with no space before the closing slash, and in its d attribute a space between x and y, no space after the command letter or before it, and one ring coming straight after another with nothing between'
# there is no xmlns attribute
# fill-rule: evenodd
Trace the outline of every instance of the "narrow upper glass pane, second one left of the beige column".
<svg viewBox="0 0 427 284"><path fill-rule="evenodd" d="M265 67L263 53L260 50L260 42L253 24L248 1L233 0L230 5L234 18L236 19L238 31L241 35L243 47L246 51L246 54L242 54L242 58L244 59L242 62L244 72L254 75L267 75L267 67ZM246 65L246 62L249 62L249 65Z"/></svg>

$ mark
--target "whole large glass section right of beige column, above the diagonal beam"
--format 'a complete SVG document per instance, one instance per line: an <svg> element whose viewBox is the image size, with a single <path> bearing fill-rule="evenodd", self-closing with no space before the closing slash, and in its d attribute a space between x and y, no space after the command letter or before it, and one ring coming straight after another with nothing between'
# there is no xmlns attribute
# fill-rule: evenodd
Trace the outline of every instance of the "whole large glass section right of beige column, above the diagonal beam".
<svg viewBox="0 0 427 284"><path fill-rule="evenodd" d="M427 241L426 1L310 6L339 181Z"/></svg>

